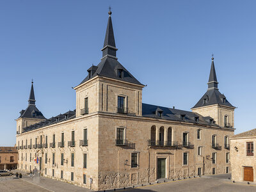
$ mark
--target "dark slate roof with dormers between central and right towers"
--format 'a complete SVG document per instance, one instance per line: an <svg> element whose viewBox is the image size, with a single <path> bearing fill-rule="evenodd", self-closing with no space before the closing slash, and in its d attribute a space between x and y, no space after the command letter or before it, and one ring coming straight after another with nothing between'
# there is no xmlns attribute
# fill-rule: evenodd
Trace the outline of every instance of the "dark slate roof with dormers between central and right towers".
<svg viewBox="0 0 256 192"><path fill-rule="evenodd" d="M157 115L156 111L159 111L159 109L163 113L162 117ZM211 123L210 120L213 120L213 118L211 118L210 116L202 116L202 115L199 115L198 113L193 113L191 111L166 108L162 106L155 106L152 104L145 104L145 103L142 104L142 116L159 118L164 120L173 120L177 122L189 122L189 123L202 124L202 125L218 126L214 122ZM184 116L183 120L182 120L182 116ZM198 118L198 122L196 122L196 118Z"/></svg>

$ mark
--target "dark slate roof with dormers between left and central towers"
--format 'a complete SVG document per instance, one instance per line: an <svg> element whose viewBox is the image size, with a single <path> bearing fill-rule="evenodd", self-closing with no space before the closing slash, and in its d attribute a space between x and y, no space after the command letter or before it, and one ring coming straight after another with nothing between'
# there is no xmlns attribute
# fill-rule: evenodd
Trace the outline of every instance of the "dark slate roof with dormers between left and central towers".
<svg viewBox="0 0 256 192"><path fill-rule="evenodd" d="M57 121L58 118L58 121ZM33 124L33 125L29 125L28 127L24 127L23 132L28 132L28 131L32 131L35 129L39 129L41 127L45 127L48 125L52 125L52 124L57 124L58 122L64 122L66 120L70 120L72 118L76 118L76 109L74 111L67 111L66 113L57 115L57 116L52 116L51 118L42 120L42 122Z"/></svg>

